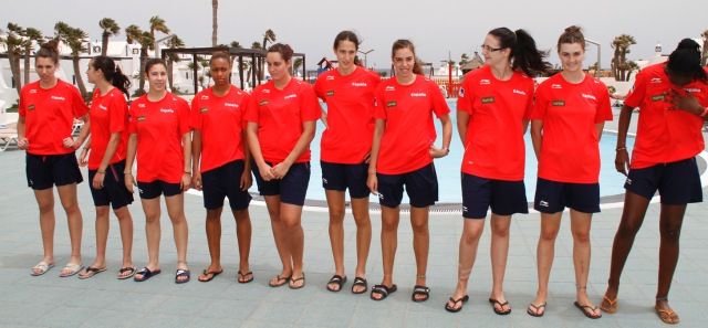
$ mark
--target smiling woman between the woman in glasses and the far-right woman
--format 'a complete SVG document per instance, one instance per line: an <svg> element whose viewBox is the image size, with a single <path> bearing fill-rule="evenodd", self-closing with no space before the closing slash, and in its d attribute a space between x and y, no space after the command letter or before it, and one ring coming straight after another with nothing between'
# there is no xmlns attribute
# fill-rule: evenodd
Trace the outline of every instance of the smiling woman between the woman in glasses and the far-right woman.
<svg viewBox="0 0 708 328"><path fill-rule="evenodd" d="M538 245L539 287L527 313L545 314L555 237L563 210L570 209L575 268L575 307L586 317L602 317L587 297L590 228L600 212L600 138L612 120L607 87L583 72L585 39L570 27L558 41L563 71L541 83L531 113L531 138L539 159L533 208L541 212Z"/></svg>

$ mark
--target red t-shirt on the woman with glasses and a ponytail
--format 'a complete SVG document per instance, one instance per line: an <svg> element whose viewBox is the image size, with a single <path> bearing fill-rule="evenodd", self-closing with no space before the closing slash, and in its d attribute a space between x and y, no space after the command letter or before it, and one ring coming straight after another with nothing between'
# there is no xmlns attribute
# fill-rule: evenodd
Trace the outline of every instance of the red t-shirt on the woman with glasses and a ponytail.
<svg viewBox="0 0 708 328"><path fill-rule="evenodd" d="M487 179L523 180L523 120L533 108L533 80L514 72L497 80L489 66L465 76L457 110L469 114L462 172Z"/></svg>

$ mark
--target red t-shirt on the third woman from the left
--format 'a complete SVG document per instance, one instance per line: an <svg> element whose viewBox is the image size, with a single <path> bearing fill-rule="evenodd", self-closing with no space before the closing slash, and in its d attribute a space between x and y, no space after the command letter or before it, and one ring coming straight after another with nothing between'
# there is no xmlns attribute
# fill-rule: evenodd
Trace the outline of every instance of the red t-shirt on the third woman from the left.
<svg viewBox="0 0 708 328"><path fill-rule="evenodd" d="M137 180L179 183L185 171L181 137L189 133L187 100L170 93L158 102L143 95L129 114L131 134L137 134Z"/></svg>

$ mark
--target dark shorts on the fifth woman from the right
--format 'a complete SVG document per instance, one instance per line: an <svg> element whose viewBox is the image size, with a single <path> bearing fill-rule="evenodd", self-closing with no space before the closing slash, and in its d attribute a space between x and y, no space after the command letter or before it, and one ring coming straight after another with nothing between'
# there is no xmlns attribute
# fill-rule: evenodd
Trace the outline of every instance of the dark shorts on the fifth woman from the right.
<svg viewBox="0 0 708 328"><path fill-rule="evenodd" d="M320 161L322 166L322 187L325 190L346 191L351 198L367 198L371 191L366 187L368 163L356 165Z"/></svg>

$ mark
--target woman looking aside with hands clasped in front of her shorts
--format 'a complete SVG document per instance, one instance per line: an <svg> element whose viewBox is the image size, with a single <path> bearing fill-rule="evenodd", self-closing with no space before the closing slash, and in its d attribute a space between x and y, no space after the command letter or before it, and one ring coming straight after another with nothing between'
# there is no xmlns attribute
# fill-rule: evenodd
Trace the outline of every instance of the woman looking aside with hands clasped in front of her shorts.
<svg viewBox="0 0 708 328"><path fill-rule="evenodd" d="M292 55L288 44L268 49L266 62L272 78L253 89L246 119L256 182L266 199L283 265L268 284L299 289L305 285L302 205L310 181L310 142L321 108L312 86L290 75Z"/></svg>

